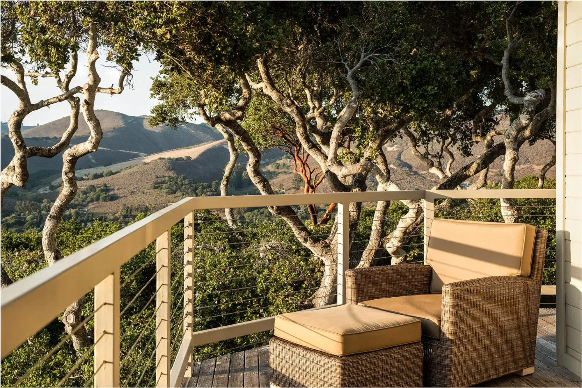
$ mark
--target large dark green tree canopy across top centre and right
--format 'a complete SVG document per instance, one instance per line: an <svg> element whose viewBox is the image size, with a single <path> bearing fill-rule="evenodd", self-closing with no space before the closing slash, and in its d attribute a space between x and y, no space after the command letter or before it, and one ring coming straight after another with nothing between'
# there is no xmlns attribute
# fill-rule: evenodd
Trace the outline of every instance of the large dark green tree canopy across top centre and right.
<svg viewBox="0 0 582 388"><path fill-rule="evenodd" d="M312 110L306 87L313 88L324 103L337 91L338 100L324 109L328 117L336 117L352 97L344 62L353 66L364 48L377 53L377 58L356 73L359 110L347 124L343 139L344 145L349 139L350 149L340 150L339 159L354 163L373 159L378 152L370 149L375 128L389 127L404 116L411 120L419 145L427 150L431 142L444 142L450 136L453 146L469 156L474 141L467 123L478 112L492 101L499 102L495 113L515 114L518 109L506 101L501 68L495 63L507 45L505 19L514 5L352 2L291 6L279 2L172 7L166 17L176 27L169 41L149 43L164 58L164 74L151 89L152 96L161 100L152 120L177 125L198 113L201 100L211 114L232 109L240 97L237 77L249 74L260 80L257 56L268 60L276 86L305 113ZM169 5L156 10L164 6ZM182 27L187 20L196 23L201 13L217 9L223 12L221 20L205 21L202 30ZM511 26L516 38L523 38L511 59L517 94L544 88L549 100L555 78L555 20L554 3L519 5ZM223 28L223 23L229 28ZM207 30L210 26L214 27L211 31ZM139 28L151 27L141 23ZM261 150L287 144L283 135L296 136L293 117L260 89L255 89L244 113L242 125ZM321 136L313 130L315 121L308 121L311 136ZM498 125L498 116L489 114L481 124L480 131L486 134ZM551 136L554 126L547 120L530 142Z"/></svg>

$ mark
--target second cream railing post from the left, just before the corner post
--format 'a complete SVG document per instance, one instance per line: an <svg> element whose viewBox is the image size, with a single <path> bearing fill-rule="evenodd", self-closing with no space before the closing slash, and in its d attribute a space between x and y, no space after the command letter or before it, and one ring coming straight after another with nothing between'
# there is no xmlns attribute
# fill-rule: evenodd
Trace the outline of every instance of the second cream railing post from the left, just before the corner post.
<svg viewBox="0 0 582 388"><path fill-rule="evenodd" d="M170 386L170 231L155 240L156 299L155 299L155 386Z"/></svg>

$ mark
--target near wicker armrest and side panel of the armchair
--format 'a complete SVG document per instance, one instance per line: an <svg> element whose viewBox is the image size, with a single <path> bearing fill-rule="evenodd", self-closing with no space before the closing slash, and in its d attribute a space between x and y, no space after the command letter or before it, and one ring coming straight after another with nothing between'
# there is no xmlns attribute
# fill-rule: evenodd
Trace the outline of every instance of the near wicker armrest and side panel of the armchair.
<svg viewBox="0 0 582 388"><path fill-rule="evenodd" d="M533 367L540 286L521 276L442 287L441 335L424 340L427 386L469 387Z"/></svg>

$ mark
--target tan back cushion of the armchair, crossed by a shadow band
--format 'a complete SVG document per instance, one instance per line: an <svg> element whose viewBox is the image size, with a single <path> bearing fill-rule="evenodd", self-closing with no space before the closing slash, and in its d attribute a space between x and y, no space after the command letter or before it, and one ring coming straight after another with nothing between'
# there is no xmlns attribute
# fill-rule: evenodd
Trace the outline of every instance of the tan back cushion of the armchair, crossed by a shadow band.
<svg viewBox="0 0 582 388"><path fill-rule="evenodd" d="M535 227L528 224L433 220L427 250L431 292L487 276L530 276L534 240Z"/></svg>

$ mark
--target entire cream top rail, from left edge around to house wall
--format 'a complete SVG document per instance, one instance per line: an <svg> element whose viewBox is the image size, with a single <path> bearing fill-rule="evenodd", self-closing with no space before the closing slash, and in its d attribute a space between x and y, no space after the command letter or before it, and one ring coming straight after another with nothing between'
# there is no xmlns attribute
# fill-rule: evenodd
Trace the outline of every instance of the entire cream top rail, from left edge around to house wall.
<svg viewBox="0 0 582 388"><path fill-rule="evenodd" d="M1 357L42 329L120 265L144 249L190 211L225 207L296 206L438 198L541 198L553 189L413 190L228 197L188 197L81 249L2 290Z"/></svg>

